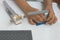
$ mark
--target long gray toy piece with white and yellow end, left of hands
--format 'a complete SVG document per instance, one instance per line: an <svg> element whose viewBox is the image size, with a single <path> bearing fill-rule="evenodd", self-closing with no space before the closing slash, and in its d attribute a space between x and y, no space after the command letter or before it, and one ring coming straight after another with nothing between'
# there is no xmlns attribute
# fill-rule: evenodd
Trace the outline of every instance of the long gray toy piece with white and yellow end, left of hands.
<svg viewBox="0 0 60 40"><path fill-rule="evenodd" d="M5 1L3 1L3 3L6 8L6 11L8 12L8 15L11 18L11 22L15 23L16 25L22 23L22 19L23 19L24 14L20 13L20 11L18 11L18 7L16 7L13 0L12 1L5 0ZM11 5L11 3L13 6ZM17 13L19 13L20 15Z"/></svg>

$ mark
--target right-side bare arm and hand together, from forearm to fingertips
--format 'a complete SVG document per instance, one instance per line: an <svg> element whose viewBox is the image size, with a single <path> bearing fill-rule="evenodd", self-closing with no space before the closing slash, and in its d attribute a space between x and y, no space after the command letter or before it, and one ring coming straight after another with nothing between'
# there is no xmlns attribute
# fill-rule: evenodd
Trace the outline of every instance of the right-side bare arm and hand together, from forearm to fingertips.
<svg viewBox="0 0 60 40"><path fill-rule="evenodd" d="M46 24L54 24L57 21L57 18L52 8L52 0L44 0L44 3L46 5L45 9L49 10L49 15Z"/></svg>

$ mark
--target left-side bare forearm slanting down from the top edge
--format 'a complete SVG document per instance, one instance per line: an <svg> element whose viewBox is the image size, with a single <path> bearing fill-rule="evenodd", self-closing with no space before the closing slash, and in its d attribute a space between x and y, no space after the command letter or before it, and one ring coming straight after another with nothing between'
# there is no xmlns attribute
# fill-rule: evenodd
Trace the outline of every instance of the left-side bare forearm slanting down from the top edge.
<svg viewBox="0 0 60 40"><path fill-rule="evenodd" d="M29 12L31 7L25 0L15 0L16 4L26 13Z"/></svg>

